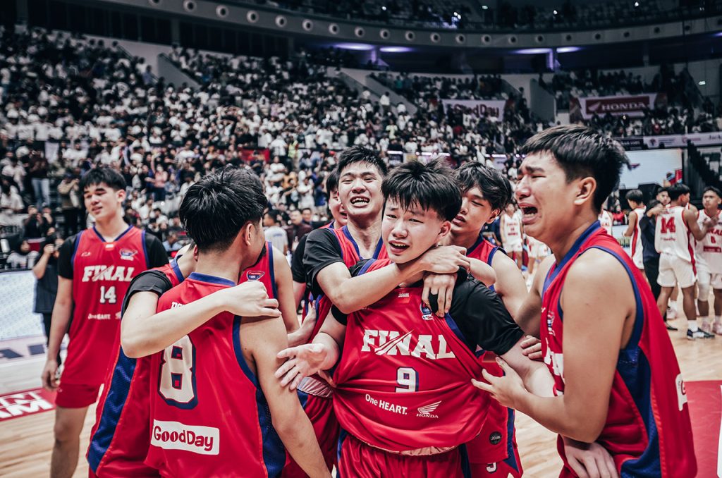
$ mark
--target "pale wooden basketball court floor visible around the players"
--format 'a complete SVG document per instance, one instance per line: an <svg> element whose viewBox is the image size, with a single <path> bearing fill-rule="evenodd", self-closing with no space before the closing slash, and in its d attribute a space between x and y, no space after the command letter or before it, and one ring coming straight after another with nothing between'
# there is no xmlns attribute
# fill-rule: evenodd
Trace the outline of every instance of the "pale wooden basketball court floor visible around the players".
<svg viewBox="0 0 722 478"><path fill-rule="evenodd" d="M677 320L680 331L671 332L672 342L677 351L684 380L722 381L722 336L716 339L691 342L684 335L684 321ZM40 371L44 356L21 360L17 363L0 364L0 395L40 386ZM719 429L720 409L700 410L692 407L693 422L697 417L716 417ZM54 412L39 412L24 417L0 422L0 477L43 477L50 470L51 448L53 446ZM529 478L556 477L561 469L561 460L556 451L556 435L545 430L529 417L517 414L517 440L524 467L524 476ZM75 477L87 477L87 449L90 428L95 422L95 407L91 407L81 435L81 456ZM700 444L695 438L697 458L701 454L717 456L718 440ZM702 448L702 449L700 449ZM700 478L714 475L699 474ZM691 478L691 477L684 477Z"/></svg>

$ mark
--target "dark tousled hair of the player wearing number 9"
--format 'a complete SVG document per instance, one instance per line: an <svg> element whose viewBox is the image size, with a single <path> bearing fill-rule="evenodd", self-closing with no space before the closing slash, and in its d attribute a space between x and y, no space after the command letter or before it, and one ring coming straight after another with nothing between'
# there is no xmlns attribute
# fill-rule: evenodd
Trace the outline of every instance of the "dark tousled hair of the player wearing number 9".
<svg viewBox="0 0 722 478"><path fill-rule="evenodd" d="M425 165L407 162L391 170L381 185L384 203L399 201L402 209L419 204L433 209L443 220L451 221L461 209L461 192L452 178L451 170L440 161ZM386 206L386 204L384 204Z"/></svg>

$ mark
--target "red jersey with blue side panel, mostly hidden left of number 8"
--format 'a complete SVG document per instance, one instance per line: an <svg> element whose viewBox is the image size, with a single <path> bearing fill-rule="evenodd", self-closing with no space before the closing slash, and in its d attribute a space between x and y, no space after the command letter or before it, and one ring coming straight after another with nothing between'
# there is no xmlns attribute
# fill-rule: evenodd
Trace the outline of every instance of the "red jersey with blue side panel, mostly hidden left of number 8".
<svg viewBox="0 0 722 478"><path fill-rule="evenodd" d="M171 287L183 282L175 258L153 270L165 274ZM98 477L157 477L157 470L143 463L150 445L150 357L127 357L120 341L113 356L90 432L90 470Z"/></svg>

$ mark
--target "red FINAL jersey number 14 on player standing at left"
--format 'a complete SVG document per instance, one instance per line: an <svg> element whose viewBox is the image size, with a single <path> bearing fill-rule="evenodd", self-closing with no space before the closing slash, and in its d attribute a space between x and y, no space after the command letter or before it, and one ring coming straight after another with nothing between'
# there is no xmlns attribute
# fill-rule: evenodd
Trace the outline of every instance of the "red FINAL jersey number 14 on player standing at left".
<svg viewBox="0 0 722 478"><path fill-rule="evenodd" d="M75 241L73 320L61 382L100 385L118 342L121 305L131 280L148 268L145 231L129 226L106 242L92 229Z"/></svg>

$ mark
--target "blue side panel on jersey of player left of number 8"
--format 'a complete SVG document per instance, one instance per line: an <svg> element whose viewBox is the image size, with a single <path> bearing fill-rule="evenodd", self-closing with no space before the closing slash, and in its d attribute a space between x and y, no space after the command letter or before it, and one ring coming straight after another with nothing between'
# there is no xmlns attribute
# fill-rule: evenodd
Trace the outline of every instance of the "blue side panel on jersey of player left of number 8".
<svg viewBox="0 0 722 478"><path fill-rule="evenodd" d="M108 451L110 443L113 443L118 421L121 419L123 407L125 407L128 399L135 368L136 359L126 357L121 347L116 367L113 369L113 378L110 381L108 395L105 396L103 412L100 414L97 430L90 438L87 460L93 473L97 473L100 461L103 461L103 456Z"/></svg>

